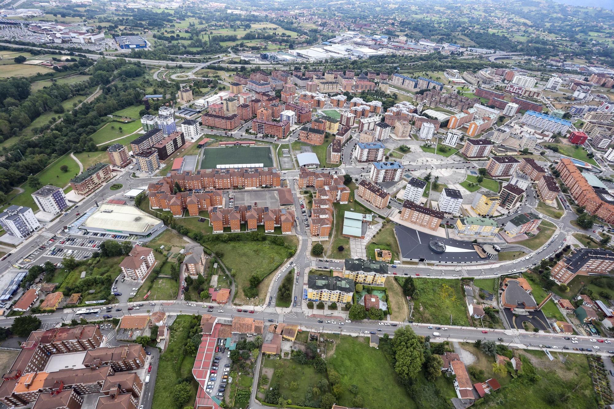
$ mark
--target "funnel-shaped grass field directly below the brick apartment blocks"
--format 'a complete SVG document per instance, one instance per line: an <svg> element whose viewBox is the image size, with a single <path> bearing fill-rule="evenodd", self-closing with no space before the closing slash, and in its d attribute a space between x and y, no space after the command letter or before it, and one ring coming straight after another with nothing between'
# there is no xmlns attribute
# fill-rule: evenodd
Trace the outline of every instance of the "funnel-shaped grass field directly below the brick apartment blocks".
<svg viewBox="0 0 614 409"><path fill-rule="evenodd" d="M289 246L298 245L294 236L284 237ZM258 275L264 279L289 257L289 249L270 241L222 241L208 243L208 247L220 256L231 275L235 278L235 302L245 303L243 287L249 286L249 278ZM261 283L262 286L263 283ZM264 291L266 292L267 289ZM260 300L259 303L262 303ZM255 304L258 305L258 304Z"/></svg>

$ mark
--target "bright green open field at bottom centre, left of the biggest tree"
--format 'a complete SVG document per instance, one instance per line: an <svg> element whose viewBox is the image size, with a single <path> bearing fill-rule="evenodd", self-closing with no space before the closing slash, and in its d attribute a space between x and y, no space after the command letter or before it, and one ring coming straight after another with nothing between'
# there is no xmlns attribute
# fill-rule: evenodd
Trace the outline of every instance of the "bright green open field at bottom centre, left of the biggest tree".
<svg viewBox="0 0 614 409"><path fill-rule="evenodd" d="M415 408L416 404L405 388L398 384L394 368L382 349L370 348L368 337L341 337L328 365L341 375L343 394L338 405L352 406L352 384L358 386L363 407L369 409ZM371 379L373 382L365 382Z"/></svg>

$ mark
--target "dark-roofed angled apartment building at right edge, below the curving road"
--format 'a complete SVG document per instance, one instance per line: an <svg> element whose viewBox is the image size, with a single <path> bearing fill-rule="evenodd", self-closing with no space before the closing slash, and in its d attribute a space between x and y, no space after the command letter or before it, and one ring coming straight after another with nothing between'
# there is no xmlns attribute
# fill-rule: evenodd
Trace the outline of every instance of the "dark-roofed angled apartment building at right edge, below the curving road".
<svg viewBox="0 0 614 409"><path fill-rule="evenodd" d="M551 278L568 284L575 276L607 275L614 268L614 252L605 249L577 248L556 263L550 271Z"/></svg>

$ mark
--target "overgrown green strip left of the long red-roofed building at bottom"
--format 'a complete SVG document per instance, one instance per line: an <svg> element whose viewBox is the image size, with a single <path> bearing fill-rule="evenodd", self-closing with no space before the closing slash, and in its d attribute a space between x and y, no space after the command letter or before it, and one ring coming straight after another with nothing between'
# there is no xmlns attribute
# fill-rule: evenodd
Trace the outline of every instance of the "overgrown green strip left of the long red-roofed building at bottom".
<svg viewBox="0 0 614 409"><path fill-rule="evenodd" d="M158 362L158 376L153 388L152 409L177 408L173 399L173 388L180 380L192 375L195 357L185 353L185 343L190 336L190 329L193 325L191 315L179 315L173 325L171 325L171 336L168 341L168 348L165 353L160 355ZM198 383L192 378L190 381L192 395L185 405L193 406L196 399ZM182 406L185 406L182 405Z"/></svg>

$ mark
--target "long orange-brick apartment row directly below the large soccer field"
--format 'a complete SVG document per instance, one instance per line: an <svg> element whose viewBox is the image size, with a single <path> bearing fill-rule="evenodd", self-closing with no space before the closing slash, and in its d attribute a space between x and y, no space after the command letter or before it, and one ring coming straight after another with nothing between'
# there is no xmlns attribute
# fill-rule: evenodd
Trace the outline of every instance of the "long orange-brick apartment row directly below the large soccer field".
<svg viewBox="0 0 614 409"><path fill-rule="evenodd" d="M275 168L200 169L168 176L171 186L175 182L182 190L253 189L280 187L281 176Z"/></svg>

